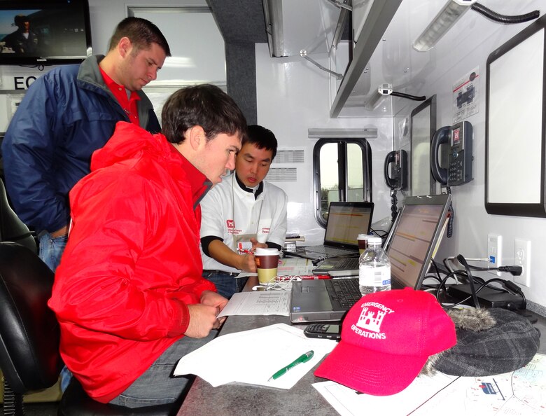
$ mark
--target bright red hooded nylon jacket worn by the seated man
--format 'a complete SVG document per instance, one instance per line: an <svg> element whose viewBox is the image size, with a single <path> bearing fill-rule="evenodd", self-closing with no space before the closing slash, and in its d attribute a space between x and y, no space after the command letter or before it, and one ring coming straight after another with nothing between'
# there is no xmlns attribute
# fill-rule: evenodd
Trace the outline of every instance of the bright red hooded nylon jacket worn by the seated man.
<svg viewBox="0 0 546 416"><path fill-rule="evenodd" d="M199 201L210 183L162 134L120 122L70 192L72 226L49 305L60 352L107 403L183 337L202 278Z"/></svg>

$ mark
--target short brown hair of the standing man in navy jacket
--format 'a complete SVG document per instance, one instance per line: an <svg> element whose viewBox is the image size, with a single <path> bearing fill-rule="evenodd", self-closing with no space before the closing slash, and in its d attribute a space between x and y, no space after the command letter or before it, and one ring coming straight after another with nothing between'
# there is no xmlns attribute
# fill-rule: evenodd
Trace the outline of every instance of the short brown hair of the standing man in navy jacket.
<svg viewBox="0 0 546 416"><path fill-rule="evenodd" d="M157 43L165 51L165 56L171 56L171 49L167 39L165 39L160 29L149 20L142 18L123 19L114 30L110 39L109 50L115 49L120 40L125 37L130 39L135 51L149 49L152 43Z"/></svg>

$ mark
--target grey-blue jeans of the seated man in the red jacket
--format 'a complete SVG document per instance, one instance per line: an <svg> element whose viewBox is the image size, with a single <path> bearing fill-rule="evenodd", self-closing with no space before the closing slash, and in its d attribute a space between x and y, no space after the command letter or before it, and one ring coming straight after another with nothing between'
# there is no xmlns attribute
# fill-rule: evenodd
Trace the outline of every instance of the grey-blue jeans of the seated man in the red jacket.
<svg viewBox="0 0 546 416"><path fill-rule="evenodd" d="M130 387L110 401L127 408L174 403L186 397L195 375L172 377L176 363L186 354L213 340L218 331L212 330L207 338L184 337L174 342L154 361Z"/></svg>

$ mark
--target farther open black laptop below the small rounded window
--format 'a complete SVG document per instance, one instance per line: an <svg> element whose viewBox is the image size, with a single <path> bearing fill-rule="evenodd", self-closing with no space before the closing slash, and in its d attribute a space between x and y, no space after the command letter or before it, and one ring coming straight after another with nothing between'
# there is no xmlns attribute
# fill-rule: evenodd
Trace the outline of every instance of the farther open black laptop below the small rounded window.
<svg viewBox="0 0 546 416"><path fill-rule="evenodd" d="M324 242L317 246L300 246L286 251L287 256L316 260L337 256L358 256L358 234L369 234L373 202L330 202Z"/></svg>

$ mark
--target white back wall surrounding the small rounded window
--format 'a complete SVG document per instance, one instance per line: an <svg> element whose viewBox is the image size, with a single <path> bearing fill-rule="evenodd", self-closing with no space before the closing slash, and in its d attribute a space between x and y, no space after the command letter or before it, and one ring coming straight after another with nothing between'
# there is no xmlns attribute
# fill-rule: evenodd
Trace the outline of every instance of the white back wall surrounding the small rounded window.
<svg viewBox="0 0 546 416"><path fill-rule="evenodd" d="M328 67L328 57L314 55ZM377 128L377 139L369 139L374 174L372 198L374 219L390 215L390 195L383 179L383 162L392 150L391 118L330 118L329 75L301 57L269 57L267 44L256 45L258 123L274 132L279 146L304 148L303 167L297 182L283 183L288 194L288 231L305 235L307 242L320 243L324 229L314 216L312 152L317 139L309 139L309 128Z"/></svg>

